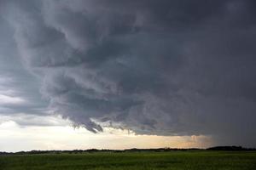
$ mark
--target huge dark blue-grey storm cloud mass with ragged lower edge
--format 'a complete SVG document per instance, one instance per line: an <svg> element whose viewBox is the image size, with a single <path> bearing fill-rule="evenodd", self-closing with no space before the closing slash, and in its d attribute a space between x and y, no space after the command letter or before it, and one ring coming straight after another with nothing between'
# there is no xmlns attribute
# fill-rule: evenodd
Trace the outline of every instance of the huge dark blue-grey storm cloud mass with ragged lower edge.
<svg viewBox="0 0 256 170"><path fill-rule="evenodd" d="M74 123L255 146L255 8L247 0L9 1L1 14L51 110Z"/></svg>

